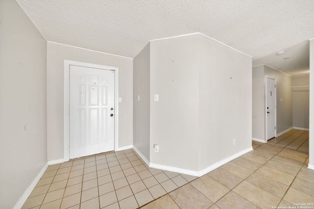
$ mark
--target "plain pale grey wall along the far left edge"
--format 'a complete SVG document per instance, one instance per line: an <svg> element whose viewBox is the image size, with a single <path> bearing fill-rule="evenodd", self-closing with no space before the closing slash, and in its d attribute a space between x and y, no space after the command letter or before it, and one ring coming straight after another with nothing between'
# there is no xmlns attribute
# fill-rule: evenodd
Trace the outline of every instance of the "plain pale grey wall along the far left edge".
<svg viewBox="0 0 314 209"><path fill-rule="evenodd" d="M13 208L47 163L46 53L46 40L20 5L1 0L1 209Z"/></svg>

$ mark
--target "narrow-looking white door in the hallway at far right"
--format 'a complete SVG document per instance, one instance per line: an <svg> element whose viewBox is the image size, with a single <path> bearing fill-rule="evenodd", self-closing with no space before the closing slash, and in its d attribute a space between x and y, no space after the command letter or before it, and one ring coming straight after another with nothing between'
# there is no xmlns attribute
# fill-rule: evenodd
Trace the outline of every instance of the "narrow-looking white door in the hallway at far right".
<svg viewBox="0 0 314 209"><path fill-rule="evenodd" d="M276 81L266 77L266 139L276 134Z"/></svg>

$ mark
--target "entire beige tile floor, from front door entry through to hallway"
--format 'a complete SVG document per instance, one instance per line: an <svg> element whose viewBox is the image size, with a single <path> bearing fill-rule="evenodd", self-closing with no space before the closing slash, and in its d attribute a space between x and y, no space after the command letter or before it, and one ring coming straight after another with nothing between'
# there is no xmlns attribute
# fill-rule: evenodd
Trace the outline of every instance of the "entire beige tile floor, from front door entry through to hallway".
<svg viewBox="0 0 314 209"><path fill-rule="evenodd" d="M51 165L23 209L270 209L314 203L308 151L283 146L306 136L291 130L275 144L253 141L253 151L200 178L149 168L133 149Z"/></svg>

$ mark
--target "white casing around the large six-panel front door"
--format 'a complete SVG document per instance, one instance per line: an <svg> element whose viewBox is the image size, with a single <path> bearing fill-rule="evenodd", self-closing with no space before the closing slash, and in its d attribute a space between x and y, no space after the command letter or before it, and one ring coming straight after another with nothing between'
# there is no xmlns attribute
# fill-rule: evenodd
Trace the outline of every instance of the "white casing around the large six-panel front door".
<svg viewBox="0 0 314 209"><path fill-rule="evenodd" d="M118 109L118 68L104 66L104 65L97 65L97 64L90 64L90 63L83 63L71 60L64 60L64 82L63 82L63 141L64 141L64 162L70 160L70 66L80 66L80 67L87 67L87 68L97 68L101 70L115 70L114 73L114 150L118 149L118 119L119 119L119 109Z"/></svg>

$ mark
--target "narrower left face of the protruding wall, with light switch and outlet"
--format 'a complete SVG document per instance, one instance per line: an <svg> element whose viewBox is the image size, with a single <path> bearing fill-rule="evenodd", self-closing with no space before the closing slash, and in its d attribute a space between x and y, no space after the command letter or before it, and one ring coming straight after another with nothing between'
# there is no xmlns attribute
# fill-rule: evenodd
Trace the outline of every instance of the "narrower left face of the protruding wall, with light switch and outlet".
<svg viewBox="0 0 314 209"><path fill-rule="evenodd" d="M151 163L198 170L197 43L198 35L151 42Z"/></svg>

